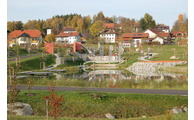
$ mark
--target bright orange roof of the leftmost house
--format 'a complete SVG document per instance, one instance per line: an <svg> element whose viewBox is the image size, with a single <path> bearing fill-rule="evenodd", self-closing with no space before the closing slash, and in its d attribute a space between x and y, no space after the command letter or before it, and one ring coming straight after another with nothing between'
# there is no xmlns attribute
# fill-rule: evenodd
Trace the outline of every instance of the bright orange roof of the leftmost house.
<svg viewBox="0 0 194 120"><path fill-rule="evenodd" d="M39 30L14 30L8 35L8 38L18 38L23 37L22 34L28 34L30 37L40 37L41 32Z"/></svg>

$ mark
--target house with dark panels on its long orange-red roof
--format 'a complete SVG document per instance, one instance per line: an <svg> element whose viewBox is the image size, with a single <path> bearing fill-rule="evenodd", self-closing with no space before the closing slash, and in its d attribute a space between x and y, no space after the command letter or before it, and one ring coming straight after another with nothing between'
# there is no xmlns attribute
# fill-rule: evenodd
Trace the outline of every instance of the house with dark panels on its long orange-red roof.
<svg viewBox="0 0 194 120"><path fill-rule="evenodd" d="M118 38L118 42L123 43L123 47L138 47L143 42L148 42L148 33L123 33L122 38Z"/></svg>

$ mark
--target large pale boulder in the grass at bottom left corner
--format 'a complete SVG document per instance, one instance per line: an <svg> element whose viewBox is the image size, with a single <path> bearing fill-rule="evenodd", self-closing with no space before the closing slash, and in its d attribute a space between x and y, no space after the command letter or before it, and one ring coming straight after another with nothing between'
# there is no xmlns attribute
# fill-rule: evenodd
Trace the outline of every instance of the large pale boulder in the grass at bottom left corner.
<svg viewBox="0 0 194 120"><path fill-rule="evenodd" d="M7 104L7 112L14 115L33 115L34 113L31 105L20 102Z"/></svg>

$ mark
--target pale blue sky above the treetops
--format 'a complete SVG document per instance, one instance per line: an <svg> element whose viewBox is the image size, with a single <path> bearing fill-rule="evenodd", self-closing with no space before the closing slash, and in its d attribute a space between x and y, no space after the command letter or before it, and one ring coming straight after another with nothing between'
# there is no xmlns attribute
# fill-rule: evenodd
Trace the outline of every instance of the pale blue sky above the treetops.
<svg viewBox="0 0 194 120"><path fill-rule="evenodd" d="M179 14L188 16L188 0L7 0L7 21L23 23L71 13L92 18L100 11L136 20L149 13L156 23L171 29Z"/></svg>

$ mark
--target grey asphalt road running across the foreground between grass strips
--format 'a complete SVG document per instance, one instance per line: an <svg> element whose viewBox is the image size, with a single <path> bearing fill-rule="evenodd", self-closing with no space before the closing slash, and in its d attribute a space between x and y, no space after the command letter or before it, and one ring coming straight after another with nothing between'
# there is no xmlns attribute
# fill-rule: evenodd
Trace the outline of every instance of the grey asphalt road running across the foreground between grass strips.
<svg viewBox="0 0 194 120"><path fill-rule="evenodd" d="M27 90L27 87L26 86L18 86L18 89ZM32 90L49 90L49 86L32 86ZM55 91L88 91L88 92L141 93L141 94L162 94L162 95L185 95L185 96L188 96L188 90L55 87Z"/></svg>

